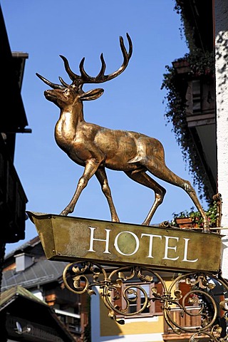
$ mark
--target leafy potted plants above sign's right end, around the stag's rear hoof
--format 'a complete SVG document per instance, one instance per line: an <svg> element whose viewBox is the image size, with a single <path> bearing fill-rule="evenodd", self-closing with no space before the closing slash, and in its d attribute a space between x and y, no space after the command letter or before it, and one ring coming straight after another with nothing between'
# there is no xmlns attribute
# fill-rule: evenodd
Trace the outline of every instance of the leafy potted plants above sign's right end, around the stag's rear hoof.
<svg viewBox="0 0 228 342"><path fill-rule="evenodd" d="M217 201L213 201L212 204L209 205L207 211L205 211L208 220L209 220L209 227L216 227L216 220L217 220ZM192 222L197 223L199 227L203 226L203 219L199 212L194 211L194 207L191 207L190 210L184 210L179 212L178 214L173 212L173 218L171 221L172 226L177 227L175 222L176 218L182 217L191 217Z"/></svg>

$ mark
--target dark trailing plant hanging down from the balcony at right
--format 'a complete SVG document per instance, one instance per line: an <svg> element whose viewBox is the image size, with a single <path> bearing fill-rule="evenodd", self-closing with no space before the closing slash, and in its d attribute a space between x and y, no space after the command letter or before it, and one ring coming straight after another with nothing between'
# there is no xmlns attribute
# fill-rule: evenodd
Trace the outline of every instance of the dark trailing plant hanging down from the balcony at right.
<svg viewBox="0 0 228 342"><path fill-rule="evenodd" d="M213 53L195 48L191 53L185 54L183 58L179 58L175 62L185 62L189 66L190 72L185 80L180 80L174 66L165 66L167 73L163 75L161 86L161 89L167 90L163 101L167 104L165 118L167 123L172 123L172 132L175 133L177 144L182 149L183 159L193 176L194 185L197 185L199 189L200 198L204 197L209 202L212 197L209 191L210 187L204 175L195 143L192 141L192 135L187 127L185 94L187 81L191 78L202 78L205 82L212 79L214 56Z"/></svg>

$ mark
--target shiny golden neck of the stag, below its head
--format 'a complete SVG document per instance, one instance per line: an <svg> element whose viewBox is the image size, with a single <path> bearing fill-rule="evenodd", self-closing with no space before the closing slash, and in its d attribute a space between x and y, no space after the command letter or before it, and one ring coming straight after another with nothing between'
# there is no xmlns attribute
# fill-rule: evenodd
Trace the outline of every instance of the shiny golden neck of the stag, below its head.
<svg viewBox="0 0 228 342"><path fill-rule="evenodd" d="M81 108L67 107L61 109L55 128L55 138L58 145L71 142L76 137L78 125L84 121L82 106Z"/></svg>

